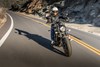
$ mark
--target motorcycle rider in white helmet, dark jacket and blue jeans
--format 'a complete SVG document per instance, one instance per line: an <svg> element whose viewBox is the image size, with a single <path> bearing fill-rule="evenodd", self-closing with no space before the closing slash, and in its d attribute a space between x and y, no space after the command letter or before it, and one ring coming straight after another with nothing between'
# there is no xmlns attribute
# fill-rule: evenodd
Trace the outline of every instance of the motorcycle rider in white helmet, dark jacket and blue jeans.
<svg viewBox="0 0 100 67"><path fill-rule="evenodd" d="M59 10L57 7L53 7L52 8L52 17L51 17L51 44L55 44L55 40L54 40L54 35L55 35L55 31L54 31L54 25L56 22L59 21Z"/></svg>

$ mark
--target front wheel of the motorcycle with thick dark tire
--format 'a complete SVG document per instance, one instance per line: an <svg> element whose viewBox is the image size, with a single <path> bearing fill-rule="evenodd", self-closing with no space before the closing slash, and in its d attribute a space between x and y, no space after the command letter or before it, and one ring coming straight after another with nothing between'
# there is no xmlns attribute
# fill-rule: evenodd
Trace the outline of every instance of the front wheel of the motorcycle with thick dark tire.
<svg viewBox="0 0 100 67"><path fill-rule="evenodd" d="M70 57L72 55L71 42L68 37L63 39L63 49L67 57Z"/></svg>

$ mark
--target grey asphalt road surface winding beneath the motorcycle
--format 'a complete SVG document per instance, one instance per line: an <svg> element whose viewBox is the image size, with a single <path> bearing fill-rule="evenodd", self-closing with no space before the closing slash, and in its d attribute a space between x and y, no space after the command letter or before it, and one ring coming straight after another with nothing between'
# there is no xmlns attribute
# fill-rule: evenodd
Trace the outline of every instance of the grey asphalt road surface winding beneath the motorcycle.
<svg viewBox="0 0 100 67"><path fill-rule="evenodd" d="M9 12L14 28L0 47L0 67L100 67L100 56L72 41L72 56L62 48L50 47L50 28ZM10 18L0 29L0 38L10 26ZM71 34L100 49L100 38L72 29Z"/></svg>

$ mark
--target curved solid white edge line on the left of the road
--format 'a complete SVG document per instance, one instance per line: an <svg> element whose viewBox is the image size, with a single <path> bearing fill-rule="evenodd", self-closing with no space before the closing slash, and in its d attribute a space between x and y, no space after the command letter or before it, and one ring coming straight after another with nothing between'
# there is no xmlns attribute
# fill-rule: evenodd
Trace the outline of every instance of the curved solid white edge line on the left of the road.
<svg viewBox="0 0 100 67"><path fill-rule="evenodd" d="M9 28L9 30L6 32L6 34L1 38L0 40L0 47L3 45L3 43L5 42L5 40L7 39L7 37L9 36L9 34L11 33L13 27L14 27L14 21L13 18L11 17L10 14L7 13L7 15L10 17L11 19L11 26Z"/></svg>

